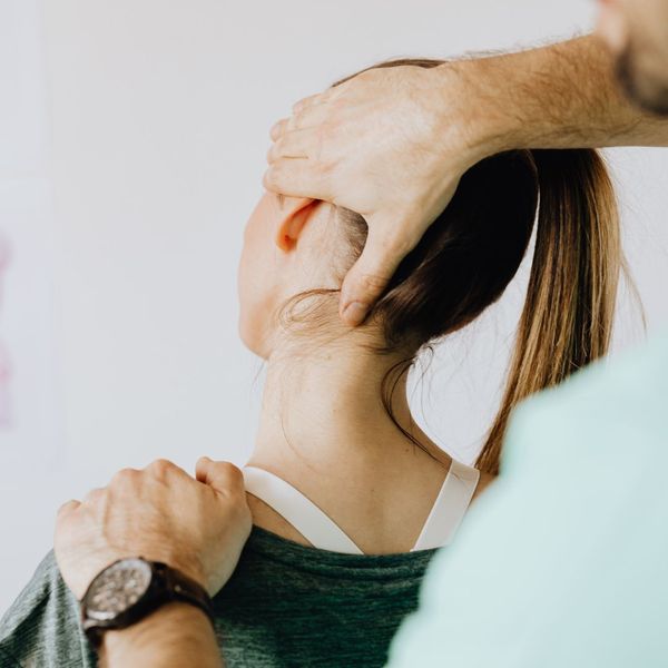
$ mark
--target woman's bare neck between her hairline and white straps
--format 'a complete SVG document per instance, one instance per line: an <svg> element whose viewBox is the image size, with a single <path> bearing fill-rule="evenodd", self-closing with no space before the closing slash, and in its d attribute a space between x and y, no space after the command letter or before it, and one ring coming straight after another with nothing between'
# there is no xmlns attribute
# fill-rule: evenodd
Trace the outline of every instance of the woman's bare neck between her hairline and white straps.
<svg viewBox="0 0 668 668"><path fill-rule="evenodd" d="M376 468L413 449L382 401L384 377L400 361L341 343L302 355L274 353L252 461L332 475ZM405 374L392 394L392 413L421 442L425 439L411 419Z"/></svg>

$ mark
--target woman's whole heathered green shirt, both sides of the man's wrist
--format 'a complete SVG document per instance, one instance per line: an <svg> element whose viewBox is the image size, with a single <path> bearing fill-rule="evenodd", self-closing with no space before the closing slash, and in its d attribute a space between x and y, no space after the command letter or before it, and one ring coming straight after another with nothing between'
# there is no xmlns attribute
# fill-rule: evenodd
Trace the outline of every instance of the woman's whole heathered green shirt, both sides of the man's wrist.
<svg viewBox="0 0 668 668"><path fill-rule="evenodd" d="M227 668L384 666L434 550L353 556L255 527L215 597ZM0 668L96 666L52 553L0 621Z"/></svg>

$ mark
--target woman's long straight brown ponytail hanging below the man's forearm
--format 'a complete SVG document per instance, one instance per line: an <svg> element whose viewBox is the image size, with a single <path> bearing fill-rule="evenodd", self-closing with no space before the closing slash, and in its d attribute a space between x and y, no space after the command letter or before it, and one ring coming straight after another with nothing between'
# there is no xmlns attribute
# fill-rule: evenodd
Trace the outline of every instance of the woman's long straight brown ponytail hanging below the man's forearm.
<svg viewBox="0 0 668 668"><path fill-rule="evenodd" d="M512 410L608 352L622 255L619 214L595 150L533 150L536 250L501 407L477 466L495 474Z"/></svg>

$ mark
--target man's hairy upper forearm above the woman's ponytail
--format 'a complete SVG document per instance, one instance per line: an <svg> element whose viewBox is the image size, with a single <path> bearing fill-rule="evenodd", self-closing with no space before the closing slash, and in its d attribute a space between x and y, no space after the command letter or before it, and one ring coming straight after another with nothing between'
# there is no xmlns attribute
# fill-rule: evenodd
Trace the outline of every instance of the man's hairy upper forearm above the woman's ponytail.
<svg viewBox="0 0 668 668"><path fill-rule="evenodd" d="M482 154L512 148L668 146L668 120L638 110L615 79L612 56L596 36L460 61L475 100L469 110ZM445 89L449 87L446 86ZM464 100L465 104L465 100Z"/></svg>

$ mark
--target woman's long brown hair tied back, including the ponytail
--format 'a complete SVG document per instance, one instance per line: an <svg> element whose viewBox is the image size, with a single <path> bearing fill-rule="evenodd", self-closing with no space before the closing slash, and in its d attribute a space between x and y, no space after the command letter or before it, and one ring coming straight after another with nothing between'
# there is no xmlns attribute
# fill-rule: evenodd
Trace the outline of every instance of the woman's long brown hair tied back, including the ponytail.
<svg viewBox="0 0 668 668"><path fill-rule="evenodd" d="M405 65L443 61L403 59L376 67ZM366 223L347 209L338 216L357 257ZM589 149L512 150L474 165L370 313L384 351L405 351L407 370L422 346L499 299L527 253L534 222L533 263L505 389L477 460L489 473L499 470L513 407L608 351L622 254L602 158ZM390 410L391 399L384 396L384 403Z"/></svg>

